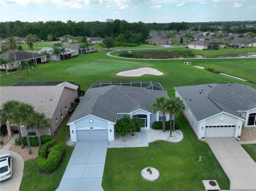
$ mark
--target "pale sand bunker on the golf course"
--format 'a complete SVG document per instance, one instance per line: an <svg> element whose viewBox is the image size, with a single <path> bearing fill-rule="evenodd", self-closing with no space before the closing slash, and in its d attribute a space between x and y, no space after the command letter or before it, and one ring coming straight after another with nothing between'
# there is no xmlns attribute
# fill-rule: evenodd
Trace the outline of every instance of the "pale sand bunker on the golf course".
<svg viewBox="0 0 256 191"><path fill-rule="evenodd" d="M133 70L125 70L122 72L118 72L116 75L117 76L125 76L125 77L137 77L137 76L143 76L144 74L162 76L164 73L160 72L154 68L145 67L145 68L138 68L138 69L133 69Z"/></svg>

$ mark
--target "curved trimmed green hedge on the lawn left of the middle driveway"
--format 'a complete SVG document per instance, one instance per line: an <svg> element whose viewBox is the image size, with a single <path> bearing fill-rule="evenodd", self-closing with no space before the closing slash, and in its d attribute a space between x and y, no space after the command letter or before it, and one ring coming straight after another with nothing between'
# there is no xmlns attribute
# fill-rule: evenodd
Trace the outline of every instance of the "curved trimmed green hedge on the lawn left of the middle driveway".
<svg viewBox="0 0 256 191"><path fill-rule="evenodd" d="M47 156L47 149L50 146L52 146L52 149L49 155ZM38 150L38 156L39 156L39 159L37 160L38 168L45 173L51 173L58 167L64 152L65 152L65 144L58 141L52 140L42 145L42 147L39 148Z"/></svg>

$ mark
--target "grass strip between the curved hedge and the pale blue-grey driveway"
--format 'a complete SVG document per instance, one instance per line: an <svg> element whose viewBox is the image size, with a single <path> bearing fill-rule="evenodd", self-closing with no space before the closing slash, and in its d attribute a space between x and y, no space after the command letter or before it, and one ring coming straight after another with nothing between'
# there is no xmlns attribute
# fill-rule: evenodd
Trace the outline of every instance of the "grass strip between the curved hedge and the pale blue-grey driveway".
<svg viewBox="0 0 256 191"><path fill-rule="evenodd" d="M60 140L61 142L66 141L67 132L69 130L68 126L66 125L68 120L65 120L60 129L57 132L57 136L55 137L56 140ZM70 156L74 150L74 147L65 146L65 157L60 165L60 167L53 172L51 175L42 175L36 170L37 159L31 159L25 162L24 164L24 171L23 177L20 185L20 190L24 191L34 191L34 190L42 190L42 191L53 191L58 188L63 173L66 170L68 161Z"/></svg>

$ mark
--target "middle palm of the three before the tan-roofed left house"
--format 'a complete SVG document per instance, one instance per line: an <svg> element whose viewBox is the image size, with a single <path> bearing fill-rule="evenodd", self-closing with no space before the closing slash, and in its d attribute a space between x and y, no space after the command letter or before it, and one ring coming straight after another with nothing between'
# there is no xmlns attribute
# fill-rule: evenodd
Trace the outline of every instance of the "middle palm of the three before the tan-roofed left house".
<svg viewBox="0 0 256 191"><path fill-rule="evenodd" d="M15 110L13 111L13 117L15 119L15 123L17 124L23 124L27 131L26 131L26 137L27 137L27 144L28 144L28 154L32 153L29 136L28 136L28 128L30 124L33 123L33 117L34 117L34 107L27 104L27 103L19 103L17 107L15 107Z"/></svg>

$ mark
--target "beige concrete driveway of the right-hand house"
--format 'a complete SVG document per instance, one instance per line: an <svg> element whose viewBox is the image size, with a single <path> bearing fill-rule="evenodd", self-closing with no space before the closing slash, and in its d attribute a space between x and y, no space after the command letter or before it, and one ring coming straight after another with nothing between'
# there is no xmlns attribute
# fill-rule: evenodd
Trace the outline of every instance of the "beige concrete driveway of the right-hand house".
<svg viewBox="0 0 256 191"><path fill-rule="evenodd" d="M256 189L256 163L232 137L206 138L230 180L230 189Z"/></svg>

